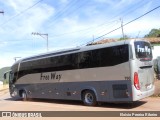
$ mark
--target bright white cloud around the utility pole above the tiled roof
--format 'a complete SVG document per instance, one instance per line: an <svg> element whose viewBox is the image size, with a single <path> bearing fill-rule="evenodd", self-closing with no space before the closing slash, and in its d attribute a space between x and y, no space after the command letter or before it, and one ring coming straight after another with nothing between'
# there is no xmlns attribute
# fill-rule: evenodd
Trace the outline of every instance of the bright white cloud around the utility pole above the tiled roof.
<svg viewBox="0 0 160 120"><path fill-rule="evenodd" d="M152 24L151 24L151 21L152 21ZM139 37L144 37L144 35L148 34L151 29L160 28L158 21L159 20L154 17L146 16L128 25L125 25L123 27L123 31L125 35L132 37L132 38L137 37L138 34L140 35ZM115 28L118 28L118 27L120 27L120 25L115 26ZM119 38L122 36L122 30L120 28L107 36L109 37L117 36Z"/></svg>

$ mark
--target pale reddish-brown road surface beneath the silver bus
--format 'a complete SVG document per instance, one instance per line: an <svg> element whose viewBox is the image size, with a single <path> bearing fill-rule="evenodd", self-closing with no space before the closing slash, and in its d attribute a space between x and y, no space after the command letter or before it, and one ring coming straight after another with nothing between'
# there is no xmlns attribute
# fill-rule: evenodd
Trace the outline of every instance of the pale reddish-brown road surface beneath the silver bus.
<svg viewBox="0 0 160 120"><path fill-rule="evenodd" d="M132 104L103 103L102 105L98 105L96 107L88 107L84 106L83 103L79 101L64 101L64 100L60 101L60 100L44 100L44 99L32 99L29 101L22 101L21 99L11 98L9 96L8 91L3 91L0 92L0 111L122 111L122 112L150 111L152 112L152 111L160 111L160 98L149 97ZM68 118L65 118L65 120L67 119ZM113 117L111 117L111 119L114 120L117 119L117 117L114 119ZM129 118L124 117L123 119L128 120ZM132 119L133 118L131 117L131 120ZM138 118L136 117L135 119ZM147 118L141 117L140 119L147 119ZM158 118L150 117L148 119L155 120Z"/></svg>

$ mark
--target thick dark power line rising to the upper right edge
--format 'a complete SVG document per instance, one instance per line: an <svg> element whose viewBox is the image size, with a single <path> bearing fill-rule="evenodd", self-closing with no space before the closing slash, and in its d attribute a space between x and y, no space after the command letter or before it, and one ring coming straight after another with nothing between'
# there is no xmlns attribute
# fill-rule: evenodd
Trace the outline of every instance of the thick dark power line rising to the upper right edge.
<svg viewBox="0 0 160 120"><path fill-rule="evenodd" d="M150 11L144 13L143 15L141 15L141 16L139 16L139 17L137 17L137 18L135 18L135 19L133 19L133 20L131 20L131 21L125 23L125 24L123 24L123 26L120 26L120 27L118 27L118 28L116 28L116 29L114 29L114 30L112 30L112 31L110 31L110 32L108 32L108 33L106 33L106 34L104 34L104 35L101 35L101 36L95 38L94 40L97 40L97 39L99 39L99 38L101 38L101 37L103 37L103 36L106 36L106 35L108 35L108 34L114 32L114 31L116 31L116 30L118 30L118 29L121 29L121 27L124 27L124 26L126 26L126 25L128 25L128 24L130 24L130 23L132 23L132 22L134 22L134 21L136 21L136 20L142 18L143 16L145 16L145 15L147 15L147 14L153 12L154 10L156 10L156 9L158 9L158 8L160 8L160 5L159 5L158 7L153 8L152 10L150 10ZM90 43L90 42L88 42L88 43Z"/></svg>

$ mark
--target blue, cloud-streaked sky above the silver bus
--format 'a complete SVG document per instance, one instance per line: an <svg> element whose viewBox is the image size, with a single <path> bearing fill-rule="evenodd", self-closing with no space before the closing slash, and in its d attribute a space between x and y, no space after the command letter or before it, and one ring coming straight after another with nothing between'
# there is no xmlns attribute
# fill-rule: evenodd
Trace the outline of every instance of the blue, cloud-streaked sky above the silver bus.
<svg viewBox="0 0 160 120"><path fill-rule="evenodd" d="M159 0L0 0L0 68L47 52L47 39L51 52L121 38L121 29L103 35L159 5ZM160 8L124 26L124 34L144 37L160 28L159 21Z"/></svg>

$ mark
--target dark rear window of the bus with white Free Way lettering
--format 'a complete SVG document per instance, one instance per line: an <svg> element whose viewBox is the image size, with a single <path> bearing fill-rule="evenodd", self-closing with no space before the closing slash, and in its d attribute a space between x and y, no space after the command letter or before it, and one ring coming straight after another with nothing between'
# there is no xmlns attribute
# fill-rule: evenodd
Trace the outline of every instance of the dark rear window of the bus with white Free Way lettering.
<svg viewBox="0 0 160 120"><path fill-rule="evenodd" d="M136 58L141 61L152 60L152 48L148 42L136 41L134 45Z"/></svg>

